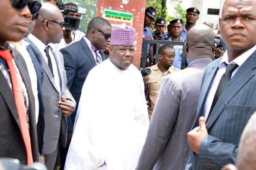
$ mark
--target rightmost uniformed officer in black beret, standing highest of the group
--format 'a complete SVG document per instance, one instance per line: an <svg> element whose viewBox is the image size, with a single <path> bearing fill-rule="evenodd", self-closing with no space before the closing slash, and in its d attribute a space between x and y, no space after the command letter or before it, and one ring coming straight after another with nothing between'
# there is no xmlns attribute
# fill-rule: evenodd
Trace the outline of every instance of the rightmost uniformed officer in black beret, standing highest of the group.
<svg viewBox="0 0 256 170"><path fill-rule="evenodd" d="M195 7L188 8L186 12L186 26L183 27L183 32L181 34L183 40L186 40L186 35L188 34L188 31L193 26L195 26L195 23L198 20L200 14L198 8Z"/></svg>

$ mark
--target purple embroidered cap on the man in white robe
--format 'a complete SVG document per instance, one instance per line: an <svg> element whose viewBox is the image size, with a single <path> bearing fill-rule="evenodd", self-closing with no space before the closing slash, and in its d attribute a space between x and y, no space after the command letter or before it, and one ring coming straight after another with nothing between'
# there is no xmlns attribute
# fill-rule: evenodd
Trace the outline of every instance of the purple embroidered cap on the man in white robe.
<svg viewBox="0 0 256 170"><path fill-rule="evenodd" d="M111 31L111 46L134 47L135 29L131 26L122 24L114 26Z"/></svg>

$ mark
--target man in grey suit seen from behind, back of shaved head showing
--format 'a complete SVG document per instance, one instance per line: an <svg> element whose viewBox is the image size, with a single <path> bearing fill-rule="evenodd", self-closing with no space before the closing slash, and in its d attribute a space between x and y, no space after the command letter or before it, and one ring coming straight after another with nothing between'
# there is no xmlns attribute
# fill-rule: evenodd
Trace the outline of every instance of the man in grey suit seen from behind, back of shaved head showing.
<svg viewBox="0 0 256 170"><path fill-rule="evenodd" d="M190 63L161 83L137 170L184 170L190 156L186 133L194 122L204 68L212 62L214 49L211 28L198 25L189 30Z"/></svg>

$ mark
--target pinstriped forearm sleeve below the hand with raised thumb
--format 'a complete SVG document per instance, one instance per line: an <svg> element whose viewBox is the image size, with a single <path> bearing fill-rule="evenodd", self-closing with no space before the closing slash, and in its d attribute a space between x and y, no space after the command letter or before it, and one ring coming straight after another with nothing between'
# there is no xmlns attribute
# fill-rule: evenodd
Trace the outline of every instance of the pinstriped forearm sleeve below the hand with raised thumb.
<svg viewBox="0 0 256 170"><path fill-rule="evenodd" d="M202 169L221 169L228 163L236 164L238 145L224 143L214 136L205 136L199 148Z"/></svg>

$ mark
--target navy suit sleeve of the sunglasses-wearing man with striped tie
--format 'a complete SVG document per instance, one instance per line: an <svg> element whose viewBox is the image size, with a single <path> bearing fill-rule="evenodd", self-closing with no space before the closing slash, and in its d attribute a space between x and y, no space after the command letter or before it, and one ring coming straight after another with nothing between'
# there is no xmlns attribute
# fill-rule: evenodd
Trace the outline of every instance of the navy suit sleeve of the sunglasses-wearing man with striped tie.
<svg viewBox="0 0 256 170"><path fill-rule="evenodd" d="M64 67L67 74L67 85L68 88L71 88L73 85L73 80L76 75L76 60L71 51L67 48L62 48L61 53L64 59Z"/></svg>

